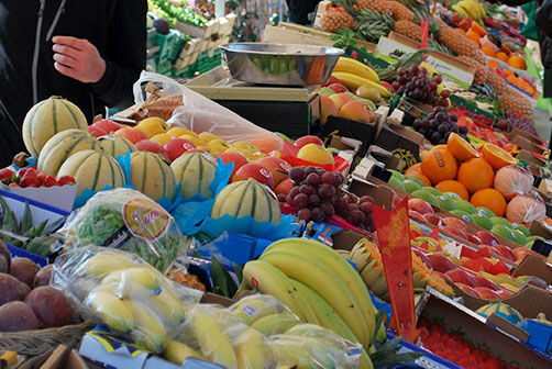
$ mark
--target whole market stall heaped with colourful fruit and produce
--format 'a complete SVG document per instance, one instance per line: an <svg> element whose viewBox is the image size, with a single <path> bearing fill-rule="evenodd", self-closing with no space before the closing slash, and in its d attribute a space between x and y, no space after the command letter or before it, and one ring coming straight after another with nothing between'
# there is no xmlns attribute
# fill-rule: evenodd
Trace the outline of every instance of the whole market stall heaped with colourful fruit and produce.
<svg viewBox="0 0 552 369"><path fill-rule="evenodd" d="M551 368L522 14L321 1L232 43L235 3L194 3L148 1L133 107L29 111L0 169L0 367Z"/></svg>

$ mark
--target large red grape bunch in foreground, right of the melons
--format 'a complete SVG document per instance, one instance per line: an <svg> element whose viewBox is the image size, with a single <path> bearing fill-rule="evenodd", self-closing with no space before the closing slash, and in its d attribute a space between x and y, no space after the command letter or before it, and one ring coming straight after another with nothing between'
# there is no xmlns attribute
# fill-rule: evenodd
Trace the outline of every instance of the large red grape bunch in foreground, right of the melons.
<svg viewBox="0 0 552 369"><path fill-rule="evenodd" d="M338 214L351 224L365 228L374 228L371 197L362 197L355 201L343 194L340 187L345 178L339 171L327 171L317 167L294 167L289 170L294 187L289 194L278 194L278 200L298 210L297 217L302 221L323 222Z"/></svg>

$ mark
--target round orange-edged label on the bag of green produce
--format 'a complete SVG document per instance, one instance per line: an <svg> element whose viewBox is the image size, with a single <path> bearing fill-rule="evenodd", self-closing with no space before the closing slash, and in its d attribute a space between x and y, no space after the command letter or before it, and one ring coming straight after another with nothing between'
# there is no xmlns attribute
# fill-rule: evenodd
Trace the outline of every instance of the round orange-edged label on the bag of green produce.
<svg viewBox="0 0 552 369"><path fill-rule="evenodd" d="M134 199L123 205L124 224L137 237L154 241L168 227L170 215L157 203Z"/></svg>

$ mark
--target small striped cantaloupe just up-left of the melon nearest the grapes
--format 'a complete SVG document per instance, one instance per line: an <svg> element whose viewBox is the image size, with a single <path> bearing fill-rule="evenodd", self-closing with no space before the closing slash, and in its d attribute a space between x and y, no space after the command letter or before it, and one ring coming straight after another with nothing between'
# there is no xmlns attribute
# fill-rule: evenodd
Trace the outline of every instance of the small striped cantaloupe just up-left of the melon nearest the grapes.
<svg viewBox="0 0 552 369"><path fill-rule="evenodd" d="M191 198L199 193L206 199L212 198L209 189L214 179L214 165L201 153L191 153L180 156L170 165L177 182L180 182L180 193Z"/></svg>

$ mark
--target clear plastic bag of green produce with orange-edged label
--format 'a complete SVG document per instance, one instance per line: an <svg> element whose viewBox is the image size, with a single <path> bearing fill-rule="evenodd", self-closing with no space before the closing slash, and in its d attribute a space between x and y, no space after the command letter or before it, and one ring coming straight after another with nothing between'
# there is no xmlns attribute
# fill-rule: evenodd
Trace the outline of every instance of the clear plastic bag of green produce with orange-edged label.
<svg viewBox="0 0 552 369"><path fill-rule="evenodd" d="M58 233L68 247L128 250L163 272L187 249L173 216L143 193L125 188L95 194Z"/></svg>

